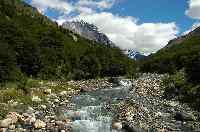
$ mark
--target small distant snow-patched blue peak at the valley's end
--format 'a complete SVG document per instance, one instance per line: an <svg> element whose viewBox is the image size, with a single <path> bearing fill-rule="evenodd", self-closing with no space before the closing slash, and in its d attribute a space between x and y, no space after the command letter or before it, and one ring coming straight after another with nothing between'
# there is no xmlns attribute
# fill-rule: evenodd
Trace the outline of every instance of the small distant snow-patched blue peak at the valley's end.
<svg viewBox="0 0 200 132"><path fill-rule="evenodd" d="M140 52L137 52L135 50L124 50L124 53L126 55L128 55L129 58L134 59L136 61L146 58L145 55L143 55Z"/></svg>

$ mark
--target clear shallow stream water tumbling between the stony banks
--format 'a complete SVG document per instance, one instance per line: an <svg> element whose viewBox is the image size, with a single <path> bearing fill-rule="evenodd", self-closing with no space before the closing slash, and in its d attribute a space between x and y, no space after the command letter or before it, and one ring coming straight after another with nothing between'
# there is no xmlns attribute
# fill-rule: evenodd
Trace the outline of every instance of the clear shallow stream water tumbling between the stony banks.
<svg viewBox="0 0 200 132"><path fill-rule="evenodd" d="M73 110L65 112L73 120L73 132L121 132L112 129L115 112L109 110L110 105L125 99L131 86L130 81L121 80L120 86L112 89L101 89L73 97Z"/></svg>

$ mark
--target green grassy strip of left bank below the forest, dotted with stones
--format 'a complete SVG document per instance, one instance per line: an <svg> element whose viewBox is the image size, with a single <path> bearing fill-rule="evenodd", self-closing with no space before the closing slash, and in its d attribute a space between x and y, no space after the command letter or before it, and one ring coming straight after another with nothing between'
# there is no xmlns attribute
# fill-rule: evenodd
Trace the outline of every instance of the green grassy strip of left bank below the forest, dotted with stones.
<svg viewBox="0 0 200 132"><path fill-rule="evenodd" d="M0 119L8 112L23 112L28 107L37 108L47 103L49 94L59 94L66 91L67 95L75 94L78 88L61 81L42 81L28 79L25 86L18 82L6 83L0 89ZM39 101L35 101L34 98Z"/></svg>

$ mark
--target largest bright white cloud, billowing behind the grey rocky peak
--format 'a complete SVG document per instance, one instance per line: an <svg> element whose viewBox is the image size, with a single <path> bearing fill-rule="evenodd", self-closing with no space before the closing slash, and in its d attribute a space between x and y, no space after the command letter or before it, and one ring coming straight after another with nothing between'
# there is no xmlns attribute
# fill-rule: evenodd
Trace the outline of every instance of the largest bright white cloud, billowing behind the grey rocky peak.
<svg viewBox="0 0 200 132"><path fill-rule="evenodd" d="M79 15L74 20L95 24L121 49L134 49L146 54L164 47L178 33L173 22L137 24L137 19L133 17L121 17L108 12Z"/></svg>

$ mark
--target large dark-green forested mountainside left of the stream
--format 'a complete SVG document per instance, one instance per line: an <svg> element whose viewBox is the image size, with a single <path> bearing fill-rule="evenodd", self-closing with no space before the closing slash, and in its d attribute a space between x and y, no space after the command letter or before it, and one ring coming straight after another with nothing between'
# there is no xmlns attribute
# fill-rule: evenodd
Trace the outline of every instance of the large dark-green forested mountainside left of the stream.
<svg viewBox="0 0 200 132"><path fill-rule="evenodd" d="M0 47L0 82L118 76L134 67L119 48L74 34L21 0L0 0Z"/></svg>

